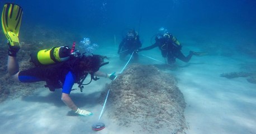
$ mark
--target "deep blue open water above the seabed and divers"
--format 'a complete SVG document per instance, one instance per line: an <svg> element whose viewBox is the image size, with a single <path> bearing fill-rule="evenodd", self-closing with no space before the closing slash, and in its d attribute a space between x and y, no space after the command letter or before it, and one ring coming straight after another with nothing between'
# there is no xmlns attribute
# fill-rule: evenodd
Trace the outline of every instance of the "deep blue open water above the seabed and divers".
<svg viewBox="0 0 256 134"><path fill-rule="evenodd" d="M148 41L159 27L166 27L175 35L186 34L191 29L193 31L203 29L209 36L229 31L230 35L224 36L227 38L241 36L237 40L253 37L256 31L254 15L256 2L253 0L25 0L1 1L1 7L5 2L17 3L23 7L23 27L43 25L54 30L71 32L75 36L79 34L92 36L100 42L112 39L113 35L120 36L125 28L135 28L145 41ZM238 30L235 27L241 29ZM243 33L244 30L246 33ZM248 30L250 32L247 32ZM240 32L239 35L234 35L236 31Z"/></svg>

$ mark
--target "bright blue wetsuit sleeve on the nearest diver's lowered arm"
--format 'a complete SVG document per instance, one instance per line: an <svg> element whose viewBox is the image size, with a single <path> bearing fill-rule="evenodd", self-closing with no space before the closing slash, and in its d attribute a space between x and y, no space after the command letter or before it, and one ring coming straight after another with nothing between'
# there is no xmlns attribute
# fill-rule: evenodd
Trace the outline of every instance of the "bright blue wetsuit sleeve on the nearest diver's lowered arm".
<svg viewBox="0 0 256 134"><path fill-rule="evenodd" d="M62 93L70 94L74 83L75 83L75 76L69 71L68 74L65 76Z"/></svg>

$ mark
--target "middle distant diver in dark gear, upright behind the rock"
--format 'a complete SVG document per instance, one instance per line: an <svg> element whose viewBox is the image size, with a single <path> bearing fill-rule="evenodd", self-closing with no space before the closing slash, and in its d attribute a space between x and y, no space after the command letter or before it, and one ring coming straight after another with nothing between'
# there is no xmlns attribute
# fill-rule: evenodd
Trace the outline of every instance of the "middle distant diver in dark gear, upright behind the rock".
<svg viewBox="0 0 256 134"><path fill-rule="evenodd" d="M140 47L141 42L138 33L135 30L129 30L118 47L117 53L119 54L120 60L124 60L125 56L128 54L131 55L134 50L138 50ZM134 60L138 60L137 52L134 52L133 56Z"/></svg>

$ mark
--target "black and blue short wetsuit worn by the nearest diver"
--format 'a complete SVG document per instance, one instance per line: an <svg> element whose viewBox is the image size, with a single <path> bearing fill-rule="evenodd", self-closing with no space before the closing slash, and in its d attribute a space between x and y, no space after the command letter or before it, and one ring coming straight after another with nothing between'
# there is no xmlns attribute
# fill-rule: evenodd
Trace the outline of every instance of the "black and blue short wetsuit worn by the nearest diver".
<svg viewBox="0 0 256 134"><path fill-rule="evenodd" d="M63 63L53 64L53 65L44 65L36 66L31 69L20 71L18 74L18 79L20 82L31 83L45 81L47 87L54 91L56 88L72 88L74 83L78 83L80 78L84 76L83 70L79 68L80 59L70 59ZM72 81L70 84L65 84L65 79ZM65 85L63 87L63 85ZM70 93L67 92L68 94Z"/></svg>

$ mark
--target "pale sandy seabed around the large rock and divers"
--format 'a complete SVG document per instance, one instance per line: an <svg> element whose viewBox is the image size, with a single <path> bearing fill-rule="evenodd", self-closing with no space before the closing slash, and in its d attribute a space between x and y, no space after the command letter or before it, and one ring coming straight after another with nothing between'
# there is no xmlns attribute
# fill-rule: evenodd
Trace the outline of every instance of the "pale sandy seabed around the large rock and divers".
<svg viewBox="0 0 256 134"><path fill-rule="evenodd" d="M100 48L101 54L108 47ZM110 49L113 50L113 49ZM110 64L101 69L107 73L121 71L126 61L120 61L116 50L108 51ZM106 52L105 52L106 53ZM141 54L163 60L158 50ZM140 55L141 64L160 64ZM188 64L177 61L175 70L163 69L177 79L177 87L187 103L184 117L188 125L186 133L256 133L256 85L245 78L227 79L220 74L240 71L241 64L255 62L244 56L232 57L220 55L194 56ZM118 119L108 116L106 111L100 121L102 92L111 81L101 78L85 87L84 92L74 90L70 96L82 109L93 112L91 117L77 116L61 101L61 90L52 93L46 88L36 89L27 97L7 99L0 104L1 133L138 133L139 125L120 126ZM22 89L21 89L22 90ZM114 112L115 109L112 109ZM158 116L157 114L155 115ZM131 118L132 119L132 118ZM135 119L136 120L136 119ZM106 128L95 132L93 123L103 122ZM167 133L168 128L154 130L154 133ZM148 131L140 131L148 133Z"/></svg>

